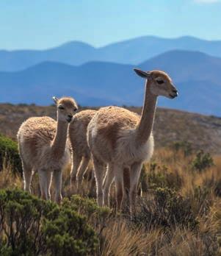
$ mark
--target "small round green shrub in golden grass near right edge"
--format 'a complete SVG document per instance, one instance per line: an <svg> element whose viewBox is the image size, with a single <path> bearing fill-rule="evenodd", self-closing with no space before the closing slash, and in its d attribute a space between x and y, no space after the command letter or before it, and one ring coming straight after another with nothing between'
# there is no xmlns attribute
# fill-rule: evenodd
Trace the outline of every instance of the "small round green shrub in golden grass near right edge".
<svg viewBox="0 0 221 256"><path fill-rule="evenodd" d="M192 160L192 168L197 171L203 171L211 166L214 166L214 160L209 153L204 153L203 150L198 151Z"/></svg>

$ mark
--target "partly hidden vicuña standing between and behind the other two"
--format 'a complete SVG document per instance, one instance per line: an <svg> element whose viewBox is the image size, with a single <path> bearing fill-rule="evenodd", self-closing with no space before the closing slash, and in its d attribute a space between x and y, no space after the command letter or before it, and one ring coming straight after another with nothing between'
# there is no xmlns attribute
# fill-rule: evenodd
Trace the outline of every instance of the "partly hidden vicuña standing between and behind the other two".
<svg viewBox="0 0 221 256"><path fill-rule="evenodd" d="M96 112L96 110L83 110L77 113L69 126L70 143L73 152L70 184L76 179L77 187L79 187L90 161L90 149L87 145L87 126Z"/></svg>

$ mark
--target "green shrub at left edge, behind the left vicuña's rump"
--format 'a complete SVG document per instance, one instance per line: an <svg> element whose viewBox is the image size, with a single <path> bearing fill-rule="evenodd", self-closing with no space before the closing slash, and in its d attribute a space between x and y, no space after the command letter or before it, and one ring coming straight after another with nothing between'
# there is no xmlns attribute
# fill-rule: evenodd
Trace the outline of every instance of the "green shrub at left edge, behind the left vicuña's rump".
<svg viewBox="0 0 221 256"><path fill-rule="evenodd" d="M10 138L0 134L0 171L4 165L10 166L14 173L22 174L18 144Z"/></svg>

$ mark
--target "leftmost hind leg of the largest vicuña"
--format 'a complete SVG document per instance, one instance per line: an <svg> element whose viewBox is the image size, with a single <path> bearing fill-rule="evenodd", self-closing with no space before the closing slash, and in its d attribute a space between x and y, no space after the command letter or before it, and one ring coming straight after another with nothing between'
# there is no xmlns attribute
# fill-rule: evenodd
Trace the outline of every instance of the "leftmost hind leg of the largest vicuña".
<svg viewBox="0 0 221 256"><path fill-rule="evenodd" d="M95 168L95 179L97 185L97 202L98 206L103 205L103 190L102 183L104 177L105 165L101 161L99 161L96 157L93 157L93 164Z"/></svg>

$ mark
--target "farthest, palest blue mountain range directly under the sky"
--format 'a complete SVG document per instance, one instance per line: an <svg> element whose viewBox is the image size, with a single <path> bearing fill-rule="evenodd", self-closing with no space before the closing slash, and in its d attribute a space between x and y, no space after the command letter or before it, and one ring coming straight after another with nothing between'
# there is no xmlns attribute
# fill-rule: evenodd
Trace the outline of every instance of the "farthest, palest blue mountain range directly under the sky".
<svg viewBox="0 0 221 256"><path fill-rule="evenodd" d="M145 36L94 48L87 43L73 41L43 51L0 51L0 71L18 71L45 61L81 65L90 61L104 61L137 65L171 50L201 51L221 57L221 41L193 37L158 38Z"/></svg>

